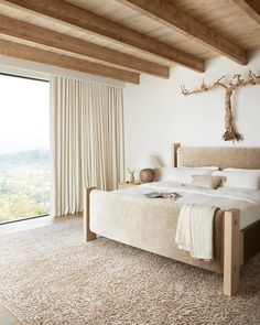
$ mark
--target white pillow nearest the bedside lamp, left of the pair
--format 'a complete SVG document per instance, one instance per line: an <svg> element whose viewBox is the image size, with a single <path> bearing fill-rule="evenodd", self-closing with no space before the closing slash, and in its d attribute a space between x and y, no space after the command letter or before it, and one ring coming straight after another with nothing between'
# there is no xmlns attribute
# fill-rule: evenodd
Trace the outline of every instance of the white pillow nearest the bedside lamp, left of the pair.
<svg viewBox="0 0 260 325"><path fill-rule="evenodd" d="M216 170L215 170L216 171ZM182 184L188 184L193 181L194 175L212 175L213 170L208 167L176 167L169 169L164 175L161 175L161 181L173 181Z"/></svg>

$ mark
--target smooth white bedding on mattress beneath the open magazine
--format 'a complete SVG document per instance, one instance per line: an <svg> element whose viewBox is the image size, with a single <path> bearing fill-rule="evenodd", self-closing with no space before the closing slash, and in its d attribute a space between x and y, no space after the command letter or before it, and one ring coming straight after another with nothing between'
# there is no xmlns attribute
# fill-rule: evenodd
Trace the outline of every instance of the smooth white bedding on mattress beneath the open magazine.
<svg viewBox="0 0 260 325"><path fill-rule="evenodd" d="M199 204L207 206L217 206L221 209L239 208L240 209L240 229L248 227L260 219L260 191L246 188L218 187L217 189L199 188L180 183L165 181L153 182L134 186L129 189L115 191L122 195L143 196L151 192L175 192L182 196L174 203L183 204Z"/></svg>

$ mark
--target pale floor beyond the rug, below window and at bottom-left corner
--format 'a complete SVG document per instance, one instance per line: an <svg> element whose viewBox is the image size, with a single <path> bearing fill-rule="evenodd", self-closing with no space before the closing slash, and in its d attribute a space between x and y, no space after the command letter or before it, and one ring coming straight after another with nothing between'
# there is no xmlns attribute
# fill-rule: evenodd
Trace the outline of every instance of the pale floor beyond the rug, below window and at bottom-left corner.
<svg viewBox="0 0 260 325"><path fill-rule="evenodd" d="M63 221L69 217L80 217L82 214L64 216L58 218L40 217L35 219L20 220L17 223L0 225L0 236L14 234L18 231L29 230L33 228L44 227L54 223ZM7 307L0 303L0 325L23 325Z"/></svg>

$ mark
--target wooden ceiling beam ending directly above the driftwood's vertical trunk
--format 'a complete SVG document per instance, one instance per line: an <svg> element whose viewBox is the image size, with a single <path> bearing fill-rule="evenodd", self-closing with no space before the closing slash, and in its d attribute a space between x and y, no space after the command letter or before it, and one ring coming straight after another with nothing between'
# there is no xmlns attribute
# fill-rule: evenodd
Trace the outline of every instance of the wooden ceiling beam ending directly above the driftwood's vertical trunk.
<svg viewBox="0 0 260 325"><path fill-rule="evenodd" d="M204 25L185 12L176 9L167 0L117 0L120 3L144 14L178 33L194 39L224 56L246 65L247 53L216 31Z"/></svg>

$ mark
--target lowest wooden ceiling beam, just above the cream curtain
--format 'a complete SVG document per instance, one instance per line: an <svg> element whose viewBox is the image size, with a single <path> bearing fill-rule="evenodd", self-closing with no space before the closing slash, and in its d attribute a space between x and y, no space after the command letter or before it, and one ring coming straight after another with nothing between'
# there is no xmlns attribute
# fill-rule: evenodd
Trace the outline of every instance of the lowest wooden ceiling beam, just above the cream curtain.
<svg viewBox="0 0 260 325"><path fill-rule="evenodd" d="M6 40L0 40L0 54L30 62L58 66L80 73L98 75L126 83L140 84L139 74L133 72L122 71L119 68L105 66L98 63L53 53L51 51L44 51Z"/></svg>

